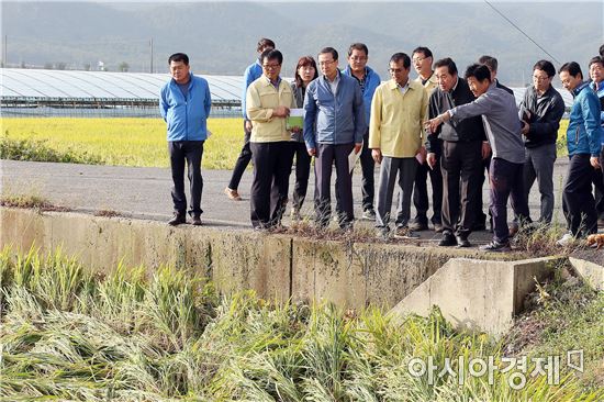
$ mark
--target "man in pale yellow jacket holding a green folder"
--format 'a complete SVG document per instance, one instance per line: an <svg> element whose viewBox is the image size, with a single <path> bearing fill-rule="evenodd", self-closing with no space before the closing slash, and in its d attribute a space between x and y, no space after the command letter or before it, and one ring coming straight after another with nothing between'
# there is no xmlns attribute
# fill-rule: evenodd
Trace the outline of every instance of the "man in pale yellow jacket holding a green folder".
<svg viewBox="0 0 604 402"><path fill-rule="evenodd" d="M249 147L254 179L249 200L255 230L281 223L293 159L286 120L290 108L295 108L291 86L279 76L283 63L281 52L265 51L260 60L262 76L251 82L246 93L246 112L253 123Z"/></svg>

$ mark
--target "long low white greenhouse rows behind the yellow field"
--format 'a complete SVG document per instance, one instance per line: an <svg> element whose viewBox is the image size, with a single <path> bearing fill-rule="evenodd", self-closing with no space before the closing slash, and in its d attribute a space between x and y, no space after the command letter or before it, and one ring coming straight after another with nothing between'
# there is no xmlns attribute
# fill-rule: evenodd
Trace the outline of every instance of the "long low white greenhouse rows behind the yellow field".
<svg viewBox="0 0 604 402"><path fill-rule="evenodd" d="M202 75L210 83L213 118L241 115L243 76ZM168 74L2 68L3 116L158 118ZM287 78L286 78L287 79ZM512 88L519 104L525 88ZM567 108L571 94L558 88Z"/></svg>

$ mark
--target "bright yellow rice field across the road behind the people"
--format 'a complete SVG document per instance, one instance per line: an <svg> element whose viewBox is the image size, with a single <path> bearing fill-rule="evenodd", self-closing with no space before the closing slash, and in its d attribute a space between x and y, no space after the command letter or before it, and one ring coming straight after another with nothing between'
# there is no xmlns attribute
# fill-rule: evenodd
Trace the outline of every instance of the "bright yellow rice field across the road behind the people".
<svg viewBox="0 0 604 402"><path fill-rule="evenodd" d="M138 167L168 167L166 124L160 119L1 120L2 158ZM563 120L558 155L566 155ZM210 119L204 169L232 169L243 145L241 119ZM9 150L7 150L9 149Z"/></svg>

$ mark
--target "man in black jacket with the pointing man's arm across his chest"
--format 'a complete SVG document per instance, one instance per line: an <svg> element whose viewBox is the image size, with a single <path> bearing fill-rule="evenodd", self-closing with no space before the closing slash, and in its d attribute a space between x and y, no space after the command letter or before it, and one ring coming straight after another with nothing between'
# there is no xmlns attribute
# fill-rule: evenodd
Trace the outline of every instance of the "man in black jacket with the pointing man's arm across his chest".
<svg viewBox="0 0 604 402"><path fill-rule="evenodd" d="M458 77L457 66L450 58L437 60L434 65L438 88L429 98L429 118L460 104L472 102L476 97L465 79ZM441 139L441 145L439 144ZM480 191L482 159L489 155L489 144L480 116L447 122L427 136L427 161L436 166L436 149L443 148L440 169L443 172L443 238L440 246L468 247ZM435 149L436 147L436 149ZM461 182L461 192L459 186ZM460 198L461 196L461 198Z"/></svg>

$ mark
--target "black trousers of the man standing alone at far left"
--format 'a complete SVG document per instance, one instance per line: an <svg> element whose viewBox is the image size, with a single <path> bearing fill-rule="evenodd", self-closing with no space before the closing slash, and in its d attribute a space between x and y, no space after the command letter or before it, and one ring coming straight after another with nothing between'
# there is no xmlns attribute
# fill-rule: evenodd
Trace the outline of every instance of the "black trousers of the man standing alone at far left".
<svg viewBox="0 0 604 402"><path fill-rule="evenodd" d="M201 177L201 157L203 156L203 141L170 141L168 142L170 154L170 168L172 171L172 202L175 211L183 214L187 210L187 196L184 196L184 164L189 177L191 203L190 215L200 215L201 192L203 178Z"/></svg>

